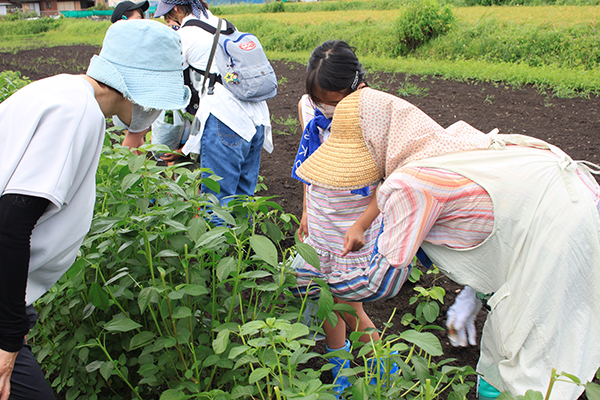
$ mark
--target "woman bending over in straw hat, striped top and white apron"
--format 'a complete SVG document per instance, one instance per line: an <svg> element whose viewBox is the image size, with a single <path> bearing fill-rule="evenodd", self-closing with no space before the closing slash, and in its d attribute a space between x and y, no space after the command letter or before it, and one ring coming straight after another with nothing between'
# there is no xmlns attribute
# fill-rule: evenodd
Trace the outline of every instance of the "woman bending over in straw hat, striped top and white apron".
<svg viewBox="0 0 600 400"><path fill-rule="evenodd" d="M331 135L297 170L307 182L377 192L384 229L346 300L398 293L419 246L454 281L488 294L477 371L499 391L545 392L552 368L589 381L600 366L600 188L542 140L443 129L369 88L336 107ZM359 243L360 226L348 232ZM367 290L369 293L367 293ZM367 294L366 294L367 293ZM583 388L557 383L552 399Z"/></svg>

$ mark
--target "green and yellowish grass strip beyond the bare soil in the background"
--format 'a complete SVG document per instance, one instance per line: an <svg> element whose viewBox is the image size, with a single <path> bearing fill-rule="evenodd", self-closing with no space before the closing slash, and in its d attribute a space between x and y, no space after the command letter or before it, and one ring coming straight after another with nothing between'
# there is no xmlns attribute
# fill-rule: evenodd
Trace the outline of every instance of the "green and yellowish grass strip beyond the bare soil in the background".
<svg viewBox="0 0 600 400"><path fill-rule="evenodd" d="M397 57L397 24L402 3L375 0L369 2L372 8L363 12L350 9L363 3L293 3L298 4L294 7L317 7L317 4L322 4L318 6L322 8L326 4L349 7L349 11L313 9L301 15L288 12L292 3L285 4L285 12L273 14L256 11L262 5L222 9L255 10L253 14L239 12L225 17L240 30L256 34L271 59L305 64L312 49L323 41L342 39L356 47L359 58L371 71L532 84L553 89L561 96L600 94L600 25L586 20L600 15L600 6L453 8L457 23L448 34L408 57ZM376 8L384 6L399 9ZM382 13L386 18L377 17ZM544 15L562 15L562 19L555 17L551 24ZM335 22L319 22L321 17ZM0 50L70 44L100 46L110 26L108 21L83 19L40 21L0 19ZM36 30L41 31L35 33Z"/></svg>

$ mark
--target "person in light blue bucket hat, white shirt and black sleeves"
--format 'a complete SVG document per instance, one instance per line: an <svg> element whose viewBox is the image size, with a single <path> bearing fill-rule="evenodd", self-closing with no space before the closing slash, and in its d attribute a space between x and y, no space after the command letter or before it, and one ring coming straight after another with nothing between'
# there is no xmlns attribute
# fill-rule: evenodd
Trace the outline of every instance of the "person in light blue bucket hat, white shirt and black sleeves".
<svg viewBox="0 0 600 400"><path fill-rule="evenodd" d="M185 107L182 65L172 29L117 22L86 75L39 80L0 104L0 400L54 399L24 344L32 303L69 269L90 228L105 118L145 129L161 109Z"/></svg>

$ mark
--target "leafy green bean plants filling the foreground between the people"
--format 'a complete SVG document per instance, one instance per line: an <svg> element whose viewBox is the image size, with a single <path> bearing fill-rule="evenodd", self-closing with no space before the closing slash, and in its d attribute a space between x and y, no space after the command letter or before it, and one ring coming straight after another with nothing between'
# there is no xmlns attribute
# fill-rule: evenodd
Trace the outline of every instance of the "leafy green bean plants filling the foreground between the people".
<svg viewBox="0 0 600 400"><path fill-rule="evenodd" d="M318 267L310 246L284 245L296 218L268 197L220 206L198 193L201 183L218 190L218 177L159 166L118 142L109 129L76 262L36 303L29 341L54 390L67 400L335 399L322 380L332 365L314 350L322 322L303 323L309 300L291 294L296 253ZM336 323L348 306L316 283L319 321ZM473 369L434 362L442 348L432 333L382 336L362 345L354 333L353 352L338 352L352 363L348 396L465 398ZM367 370L373 356L388 362ZM391 362L400 374L389 376Z"/></svg>

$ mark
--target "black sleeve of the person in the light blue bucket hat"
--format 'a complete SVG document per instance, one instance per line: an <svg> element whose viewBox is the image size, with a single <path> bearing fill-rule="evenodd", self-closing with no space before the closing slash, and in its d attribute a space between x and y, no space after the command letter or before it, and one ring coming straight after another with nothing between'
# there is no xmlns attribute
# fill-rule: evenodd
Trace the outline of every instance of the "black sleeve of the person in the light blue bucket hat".
<svg viewBox="0 0 600 400"><path fill-rule="evenodd" d="M0 349L17 352L29 331L25 291L31 232L50 204L20 194L0 197Z"/></svg>

